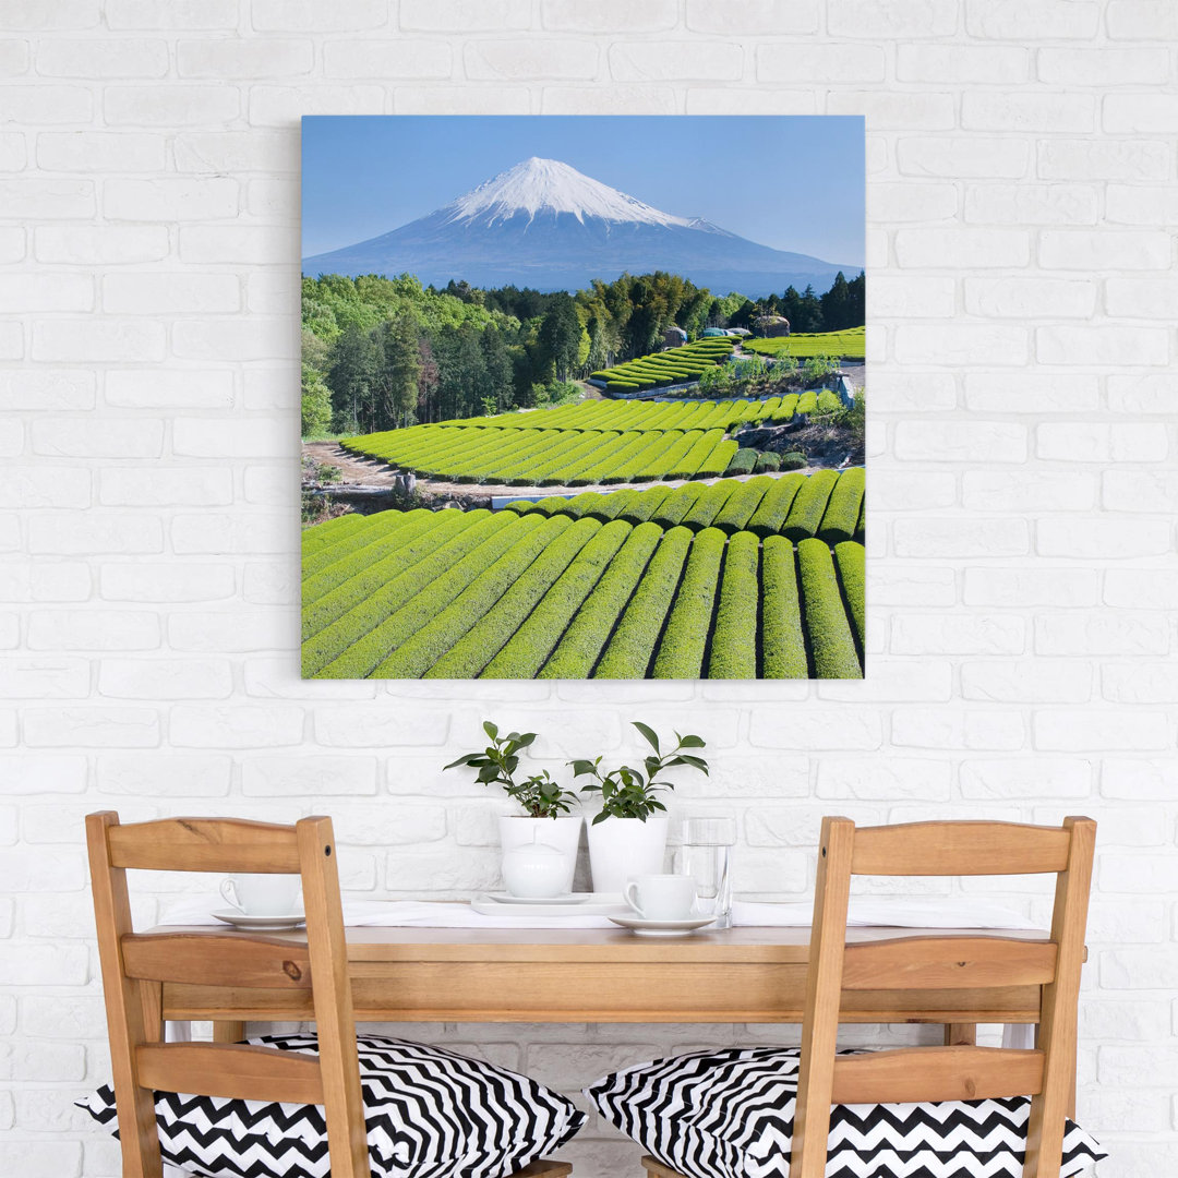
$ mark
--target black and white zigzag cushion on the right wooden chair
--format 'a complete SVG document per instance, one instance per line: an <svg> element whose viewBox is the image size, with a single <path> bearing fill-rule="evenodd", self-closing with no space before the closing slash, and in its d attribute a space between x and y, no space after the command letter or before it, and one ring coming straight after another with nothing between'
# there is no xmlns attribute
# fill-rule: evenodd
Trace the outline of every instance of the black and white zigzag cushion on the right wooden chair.
<svg viewBox="0 0 1178 1178"><path fill-rule="evenodd" d="M602 1116L686 1178L788 1178L799 1051L697 1051L584 1090ZM1031 1101L838 1105L826 1178L1021 1178ZM1061 1178L1105 1157L1067 1124Z"/></svg>

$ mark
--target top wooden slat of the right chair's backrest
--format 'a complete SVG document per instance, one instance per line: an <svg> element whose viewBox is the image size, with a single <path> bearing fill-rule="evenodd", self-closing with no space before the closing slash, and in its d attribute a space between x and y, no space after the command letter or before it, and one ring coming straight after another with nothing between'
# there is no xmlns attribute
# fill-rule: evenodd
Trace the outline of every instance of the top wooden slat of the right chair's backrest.
<svg viewBox="0 0 1178 1178"><path fill-rule="evenodd" d="M1067 867L1071 834L1019 822L907 822L855 830L853 875L1041 875Z"/></svg>

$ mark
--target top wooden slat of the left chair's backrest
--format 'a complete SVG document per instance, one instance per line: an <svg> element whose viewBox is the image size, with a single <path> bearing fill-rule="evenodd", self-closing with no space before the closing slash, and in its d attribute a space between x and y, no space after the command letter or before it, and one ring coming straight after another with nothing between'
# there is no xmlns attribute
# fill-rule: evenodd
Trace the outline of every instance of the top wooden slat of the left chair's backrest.
<svg viewBox="0 0 1178 1178"><path fill-rule="evenodd" d="M289 826L244 819L174 818L107 832L112 867L157 872L257 872L297 875Z"/></svg>

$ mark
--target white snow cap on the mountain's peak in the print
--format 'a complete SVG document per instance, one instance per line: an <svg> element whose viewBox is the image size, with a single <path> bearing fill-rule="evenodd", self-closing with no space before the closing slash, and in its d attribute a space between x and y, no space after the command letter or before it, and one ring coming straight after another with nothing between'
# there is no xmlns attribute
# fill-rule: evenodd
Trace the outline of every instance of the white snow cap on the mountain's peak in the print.
<svg viewBox="0 0 1178 1178"><path fill-rule="evenodd" d="M540 159L536 155L471 188L445 211L450 213L450 220L478 220L485 225L518 213L527 213L531 220L541 212L571 213L582 223L585 217L597 217L644 225L689 224L683 217L673 217L643 204L558 159Z"/></svg>

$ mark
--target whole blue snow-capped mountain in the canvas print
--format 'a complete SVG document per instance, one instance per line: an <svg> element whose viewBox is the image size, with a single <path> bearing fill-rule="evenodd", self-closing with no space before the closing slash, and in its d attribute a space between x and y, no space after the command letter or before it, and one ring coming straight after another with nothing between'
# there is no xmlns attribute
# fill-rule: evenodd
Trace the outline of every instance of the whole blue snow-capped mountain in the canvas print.
<svg viewBox="0 0 1178 1178"><path fill-rule="evenodd" d="M581 290L591 279L664 270L716 294L752 298L842 270L773 250L700 218L676 217L555 159L527 159L450 204L389 233L303 259L306 274L416 274L471 286Z"/></svg>

